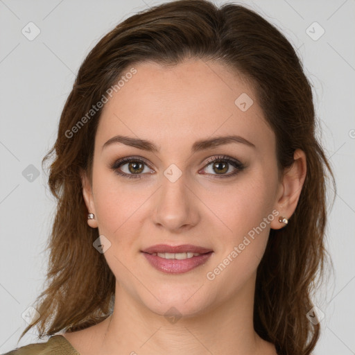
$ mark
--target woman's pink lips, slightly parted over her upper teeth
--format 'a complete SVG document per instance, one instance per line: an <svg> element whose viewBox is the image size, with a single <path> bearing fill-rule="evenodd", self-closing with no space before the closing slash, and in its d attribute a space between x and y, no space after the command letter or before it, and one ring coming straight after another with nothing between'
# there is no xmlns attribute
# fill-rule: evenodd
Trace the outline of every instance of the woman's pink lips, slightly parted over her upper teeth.
<svg viewBox="0 0 355 355"><path fill-rule="evenodd" d="M197 245L153 245L142 250L151 266L168 274L182 274L204 264L213 250Z"/></svg>

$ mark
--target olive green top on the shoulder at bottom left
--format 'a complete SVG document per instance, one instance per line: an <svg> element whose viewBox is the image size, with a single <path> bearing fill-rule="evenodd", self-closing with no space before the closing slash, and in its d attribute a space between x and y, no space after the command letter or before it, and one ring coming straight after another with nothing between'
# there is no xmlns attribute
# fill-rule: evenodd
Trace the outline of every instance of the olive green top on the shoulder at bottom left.
<svg viewBox="0 0 355 355"><path fill-rule="evenodd" d="M51 336L46 343L25 345L3 355L80 355L80 353L64 336L58 334Z"/></svg>

